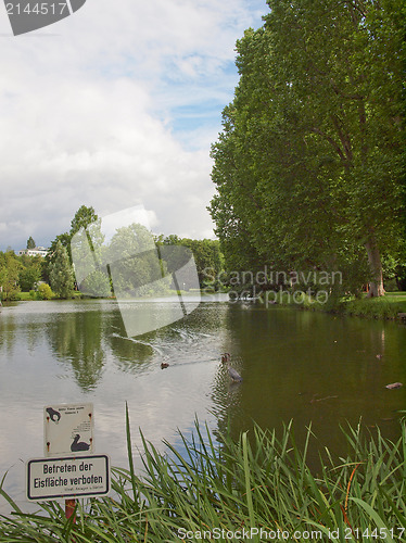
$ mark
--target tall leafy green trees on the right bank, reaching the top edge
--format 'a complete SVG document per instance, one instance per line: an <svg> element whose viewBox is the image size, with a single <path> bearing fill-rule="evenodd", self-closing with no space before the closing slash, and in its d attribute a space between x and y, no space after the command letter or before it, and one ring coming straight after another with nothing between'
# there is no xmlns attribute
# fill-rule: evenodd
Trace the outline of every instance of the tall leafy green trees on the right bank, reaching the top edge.
<svg viewBox="0 0 406 543"><path fill-rule="evenodd" d="M213 147L217 233L236 261L249 244L248 260L341 268L380 295L404 213L403 4L268 5L238 42L240 81Z"/></svg>

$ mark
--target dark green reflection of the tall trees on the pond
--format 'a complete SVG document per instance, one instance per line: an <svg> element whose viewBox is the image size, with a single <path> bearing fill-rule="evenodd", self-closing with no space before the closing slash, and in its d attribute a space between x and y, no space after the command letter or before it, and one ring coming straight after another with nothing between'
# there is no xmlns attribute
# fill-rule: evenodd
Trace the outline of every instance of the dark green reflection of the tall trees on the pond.
<svg viewBox="0 0 406 543"><path fill-rule="evenodd" d="M226 348L244 382L232 414L232 396L221 384L214 390L214 401L230 406L223 409L221 428L230 417L234 435L253 420L280 429L293 419L304 439L312 422L337 452L343 442L339 425L356 425L360 417L369 427L383 425L388 435L397 434L406 388L388 394L385 384L406 382L406 330L401 325L283 308L264 314L253 306L230 307L227 326Z"/></svg>

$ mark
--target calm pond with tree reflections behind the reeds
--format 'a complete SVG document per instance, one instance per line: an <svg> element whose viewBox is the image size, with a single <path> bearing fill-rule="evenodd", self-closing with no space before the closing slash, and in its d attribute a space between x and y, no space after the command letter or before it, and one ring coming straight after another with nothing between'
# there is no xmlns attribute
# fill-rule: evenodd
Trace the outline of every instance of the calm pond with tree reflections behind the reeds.
<svg viewBox="0 0 406 543"><path fill-rule="evenodd" d="M241 383L230 381L224 352ZM397 323L210 298L137 338L126 337L114 301L9 305L0 313L0 477L8 471L5 490L28 510L25 463L43 457L48 404L92 402L94 452L116 466L127 466L125 402L136 456L139 427L163 450L163 439L180 446L177 429L189 435L195 417L214 431L230 424L236 435L253 420L280 430L293 419L299 440L312 422L337 453L340 425L360 417L394 439L406 387L385 384L406 383L405 352L406 327Z"/></svg>

